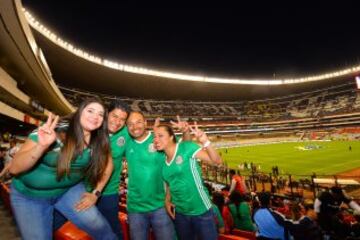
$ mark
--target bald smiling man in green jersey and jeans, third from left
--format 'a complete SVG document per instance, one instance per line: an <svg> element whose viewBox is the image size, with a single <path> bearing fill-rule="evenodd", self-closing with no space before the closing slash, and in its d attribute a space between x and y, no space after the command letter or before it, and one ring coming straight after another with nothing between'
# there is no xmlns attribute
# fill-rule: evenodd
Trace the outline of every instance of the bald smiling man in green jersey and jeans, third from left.
<svg viewBox="0 0 360 240"><path fill-rule="evenodd" d="M151 227L157 240L174 239L173 223L164 208L161 173L165 156L154 148L154 135L146 126L142 113L130 113L127 127L132 139L126 145L130 236L132 240L145 240Z"/></svg>

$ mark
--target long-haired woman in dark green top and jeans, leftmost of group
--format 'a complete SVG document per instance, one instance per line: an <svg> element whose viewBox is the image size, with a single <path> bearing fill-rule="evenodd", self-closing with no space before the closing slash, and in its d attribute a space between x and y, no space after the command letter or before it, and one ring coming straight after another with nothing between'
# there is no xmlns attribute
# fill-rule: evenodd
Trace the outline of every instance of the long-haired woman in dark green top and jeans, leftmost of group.
<svg viewBox="0 0 360 240"><path fill-rule="evenodd" d="M57 209L95 239L116 239L110 225L92 206L84 178L101 191L112 173L107 112L98 99L88 99L72 115L65 142L57 139L58 116L29 135L15 155L10 172L11 204L22 239L52 239Z"/></svg>

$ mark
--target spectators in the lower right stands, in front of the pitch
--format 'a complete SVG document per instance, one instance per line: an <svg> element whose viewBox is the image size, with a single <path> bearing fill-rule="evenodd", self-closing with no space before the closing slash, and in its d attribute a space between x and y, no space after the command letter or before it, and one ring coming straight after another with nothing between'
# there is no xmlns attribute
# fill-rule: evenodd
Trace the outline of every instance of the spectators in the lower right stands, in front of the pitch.
<svg viewBox="0 0 360 240"><path fill-rule="evenodd" d="M359 239L359 205L340 187L312 199L287 199L270 192L238 191L208 186L214 203L218 231L253 232L257 239Z"/></svg>

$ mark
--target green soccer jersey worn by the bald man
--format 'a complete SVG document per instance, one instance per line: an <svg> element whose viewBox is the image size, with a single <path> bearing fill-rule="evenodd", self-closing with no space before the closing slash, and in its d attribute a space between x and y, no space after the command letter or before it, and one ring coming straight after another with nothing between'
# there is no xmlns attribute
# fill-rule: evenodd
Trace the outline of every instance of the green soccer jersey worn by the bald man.
<svg viewBox="0 0 360 240"><path fill-rule="evenodd" d="M127 211L146 213L164 206L165 189L161 169L165 155L154 148L153 133L143 141L129 140L126 145L128 163Z"/></svg>

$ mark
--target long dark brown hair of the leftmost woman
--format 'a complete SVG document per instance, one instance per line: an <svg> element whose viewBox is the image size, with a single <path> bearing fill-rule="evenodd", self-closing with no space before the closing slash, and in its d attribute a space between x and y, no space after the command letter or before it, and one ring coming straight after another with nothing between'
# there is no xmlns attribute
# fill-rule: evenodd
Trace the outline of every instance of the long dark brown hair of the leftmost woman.
<svg viewBox="0 0 360 240"><path fill-rule="evenodd" d="M89 98L84 100L76 112L69 118L69 127L66 131L66 139L61 149L61 154L57 163L57 178L61 180L64 175L69 175L70 166L80 154L82 154L86 142L83 128L80 124L80 117L84 108L91 103L98 103L104 108L104 119L102 125L91 131L90 142L88 147L91 151L89 165L84 169L84 175L89 183L95 186L101 179L110 154L107 117L108 113L103 102L98 98Z"/></svg>

